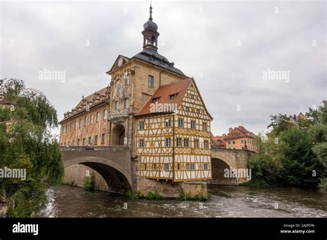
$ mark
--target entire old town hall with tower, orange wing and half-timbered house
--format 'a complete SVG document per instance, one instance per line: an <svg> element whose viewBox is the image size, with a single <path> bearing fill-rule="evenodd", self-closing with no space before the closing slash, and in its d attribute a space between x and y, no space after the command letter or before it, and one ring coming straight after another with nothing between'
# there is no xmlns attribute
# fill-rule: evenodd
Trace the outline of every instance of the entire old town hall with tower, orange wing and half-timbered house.
<svg viewBox="0 0 327 240"><path fill-rule="evenodd" d="M158 53L158 27L143 25L143 50L119 55L110 86L64 114L60 145L130 146L139 176L172 182L211 179L210 121L195 79Z"/></svg>

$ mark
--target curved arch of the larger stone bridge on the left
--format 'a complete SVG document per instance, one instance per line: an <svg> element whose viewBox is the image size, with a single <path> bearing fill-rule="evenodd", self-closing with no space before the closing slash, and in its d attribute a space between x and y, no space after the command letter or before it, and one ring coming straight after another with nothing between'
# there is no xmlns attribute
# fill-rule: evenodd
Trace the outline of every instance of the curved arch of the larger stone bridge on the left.
<svg viewBox="0 0 327 240"><path fill-rule="evenodd" d="M89 156L63 161L65 168L75 164L82 164L98 172L106 181L110 192L123 193L125 190L132 190L132 176L110 159Z"/></svg>

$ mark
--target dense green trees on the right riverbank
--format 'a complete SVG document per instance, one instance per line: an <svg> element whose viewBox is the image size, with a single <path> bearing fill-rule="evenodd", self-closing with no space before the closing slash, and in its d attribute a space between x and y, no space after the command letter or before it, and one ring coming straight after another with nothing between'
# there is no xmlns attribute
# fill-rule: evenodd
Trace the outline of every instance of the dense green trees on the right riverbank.
<svg viewBox="0 0 327 240"><path fill-rule="evenodd" d="M250 156L254 183L319 186L327 190L327 101L309 108L295 128L286 114L270 116L268 139L259 135L259 154Z"/></svg>

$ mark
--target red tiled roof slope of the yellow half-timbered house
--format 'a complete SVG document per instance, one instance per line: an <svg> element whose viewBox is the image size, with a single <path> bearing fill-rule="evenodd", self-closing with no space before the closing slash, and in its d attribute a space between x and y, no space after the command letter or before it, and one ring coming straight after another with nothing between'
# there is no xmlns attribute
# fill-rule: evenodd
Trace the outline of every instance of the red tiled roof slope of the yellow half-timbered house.
<svg viewBox="0 0 327 240"><path fill-rule="evenodd" d="M143 107L135 114L135 116L141 116L146 114L152 114L156 112L150 111L150 105L152 103L152 99L157 99L157 103L164 104L164 103L177 103L177 106L179 103L181 103L181 100L183 99L186 90L188 89L188 86L190 86L190 83L192 82L193 78L190 77L188 79L184 79L181 81L176 81L175 83L169 83L166 85L161 86L157 89L157 91L146 101L146 103L143 105ZM175 99L170 99L170 95L176 94Z"/></svg>

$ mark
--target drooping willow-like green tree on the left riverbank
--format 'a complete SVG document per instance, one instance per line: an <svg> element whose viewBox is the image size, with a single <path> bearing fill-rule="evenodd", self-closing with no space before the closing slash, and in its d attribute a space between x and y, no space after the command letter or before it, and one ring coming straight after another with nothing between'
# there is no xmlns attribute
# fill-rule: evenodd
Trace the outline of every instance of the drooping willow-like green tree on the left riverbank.
<svg viewBox="0 0 327 240"><path fill-rule="evenodd" d="M26 179L0 179L0 194L12 201L9 217L33 217L46 202L46 184L61 182L63 163L57 140L57 112L46 97L23 81L3 79L0 101L0 168L26 169Z"/></svg>

